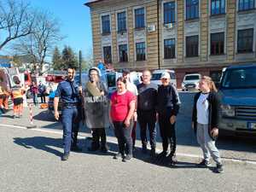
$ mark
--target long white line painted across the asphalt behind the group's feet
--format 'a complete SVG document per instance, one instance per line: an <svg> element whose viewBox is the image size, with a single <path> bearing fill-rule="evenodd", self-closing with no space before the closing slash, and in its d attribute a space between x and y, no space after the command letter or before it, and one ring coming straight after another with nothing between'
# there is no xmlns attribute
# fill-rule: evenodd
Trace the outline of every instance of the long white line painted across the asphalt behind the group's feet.
<svg viewBox="0 0 256 192"><path fill-rule="evenodd" d="M0 126L3 127L13 127L13 128L17 128L17 129L22 129L22 130L28 130L26 126L19 126L19 125L5 125L5 124L0 124ZM40 131L40 132L45 132L45 133L54 133L56 135L62 135L62 131L53 131L53 130L49 130L49 129L42 129L42 128L36 128L36 129L31 129L32 131ZM79 133L78 136L80 139L84 138L84 137L91 137L90 134L88 133ZM111 141L112 143L118 144L115 137L109 137L108 136L108 141ZM136 145L136 147L140 147L138 145ZM160 153L161 150L159 148L156 148L156 152ZM196 159L200 159L202 158L201 155L199 154L183 154L183 153L177 153L177 156L181 156L181 157L189 157L189 158L196 158ZM225 158L225 157L221 157L222 160L227 161L227 162L234 162L234 163L242 163L242 164L249 164L249 165L255 165L256 166L256 161L253 160L237 160L237 159L231 159L231 158Z"/></svg>

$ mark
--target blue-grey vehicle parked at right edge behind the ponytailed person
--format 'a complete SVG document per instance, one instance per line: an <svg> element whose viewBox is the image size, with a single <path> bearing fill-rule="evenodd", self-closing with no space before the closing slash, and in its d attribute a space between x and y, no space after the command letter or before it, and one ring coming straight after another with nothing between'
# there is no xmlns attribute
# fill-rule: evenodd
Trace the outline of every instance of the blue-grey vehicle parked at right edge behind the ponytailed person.
<svg viewBox="0 0 256 192"><path fill-rule="evenodd" d="M256 136L256 63L227 67L218 90L220 135Z"/></svg>

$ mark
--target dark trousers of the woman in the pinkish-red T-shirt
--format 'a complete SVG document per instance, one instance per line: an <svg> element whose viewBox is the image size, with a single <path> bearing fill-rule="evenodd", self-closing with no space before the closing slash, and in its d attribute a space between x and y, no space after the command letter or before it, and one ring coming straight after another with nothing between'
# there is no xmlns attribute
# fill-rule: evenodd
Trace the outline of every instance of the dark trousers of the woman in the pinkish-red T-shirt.
<svg viewBox="0 0 256 192"><path fill-rule="evenodd" d="M115 137L117 137L119 143L119 153L125 155L125 152L127 152L127 154L132 156L132 120L129 127L125 127L123 121L113 121L113 126Z"/></svg>

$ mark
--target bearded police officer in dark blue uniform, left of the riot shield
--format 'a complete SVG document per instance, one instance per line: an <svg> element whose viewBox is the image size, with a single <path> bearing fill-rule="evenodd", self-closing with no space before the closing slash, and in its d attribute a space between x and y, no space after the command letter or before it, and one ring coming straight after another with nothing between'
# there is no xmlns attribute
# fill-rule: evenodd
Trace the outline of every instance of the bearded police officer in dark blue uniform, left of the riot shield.
<svg viewBox="0 0 256 192"><path fill-rule="evenodd" d="M58 84L55 93L54 108L55 119L59 119L58 104L62 101L62 125L63 125L63 148L64 154L61 160L67 160L70 150L81 151L77 146L77 137L79 132L79 93L82 87L74 82L75 69L67 68L67 79Z"/></svg>

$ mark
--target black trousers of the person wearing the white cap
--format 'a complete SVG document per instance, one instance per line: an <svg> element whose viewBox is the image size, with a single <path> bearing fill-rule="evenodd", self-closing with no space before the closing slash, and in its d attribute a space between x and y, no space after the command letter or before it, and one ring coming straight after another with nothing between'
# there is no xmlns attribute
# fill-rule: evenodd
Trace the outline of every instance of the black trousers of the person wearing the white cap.
<svg viewBox="0 0 256 192"><path fill-rule="evenodd" d="M171 124L169 115L159 114L159 126L160 126L160 136L162 137L163 151L167 151L168 144L170 141L171 153L173 156L176 152L176 132L175 123Z"/></svg>

